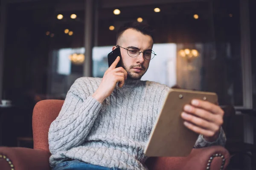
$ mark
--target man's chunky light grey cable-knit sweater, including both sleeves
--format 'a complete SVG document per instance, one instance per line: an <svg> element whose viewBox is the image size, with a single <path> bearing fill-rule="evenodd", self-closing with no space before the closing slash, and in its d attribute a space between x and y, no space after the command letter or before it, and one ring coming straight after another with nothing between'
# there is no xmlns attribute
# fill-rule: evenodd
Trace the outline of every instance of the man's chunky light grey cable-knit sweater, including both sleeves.
<svg viewBox="0 0 256 170"><path fill-rule="evenodd" d="M64 105L49 128L51 167L78 159L123 170L146 170L143 154L151 129L169 88L156 82L126 80L101 104L92 97L101 78L82 77L67 93ZM224 145L200 135L195 147Z"/></svg>

